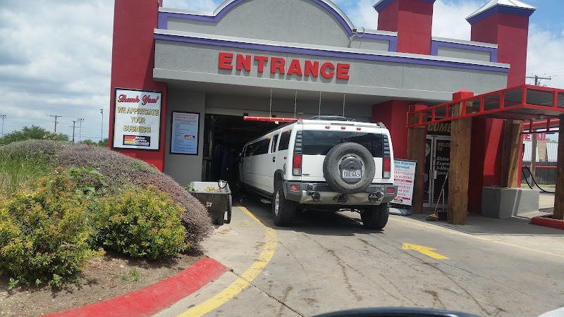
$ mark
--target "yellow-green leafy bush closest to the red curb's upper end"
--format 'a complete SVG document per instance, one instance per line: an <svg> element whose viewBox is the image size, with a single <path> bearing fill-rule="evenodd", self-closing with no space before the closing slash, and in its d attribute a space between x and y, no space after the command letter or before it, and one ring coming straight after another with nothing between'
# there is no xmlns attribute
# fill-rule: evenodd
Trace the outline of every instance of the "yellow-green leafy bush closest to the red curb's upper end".
<svg viewBox="0 0 564 317"><path fill-rule="evenodd" d="M161 259L184 251L180 205L154 186L99 199L92 213L91 243L134 258Z"/></svg>

